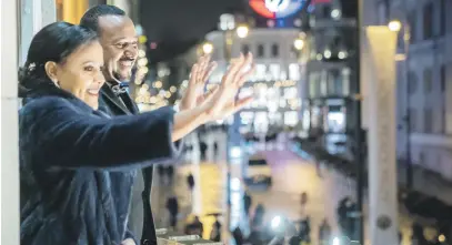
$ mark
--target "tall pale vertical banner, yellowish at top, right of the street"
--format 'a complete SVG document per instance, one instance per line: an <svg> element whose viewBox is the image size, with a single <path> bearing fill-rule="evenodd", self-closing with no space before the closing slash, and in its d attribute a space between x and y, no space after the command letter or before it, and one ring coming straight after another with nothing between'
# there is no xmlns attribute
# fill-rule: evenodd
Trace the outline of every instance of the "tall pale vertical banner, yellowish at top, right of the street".
<svg viewBox="0 0 452 245"><path fill-rule="evenodd" d="M369 223L371 244L398 245L395 164L396 32L388 27L365 29L365 80L369 100Z"/></svg>

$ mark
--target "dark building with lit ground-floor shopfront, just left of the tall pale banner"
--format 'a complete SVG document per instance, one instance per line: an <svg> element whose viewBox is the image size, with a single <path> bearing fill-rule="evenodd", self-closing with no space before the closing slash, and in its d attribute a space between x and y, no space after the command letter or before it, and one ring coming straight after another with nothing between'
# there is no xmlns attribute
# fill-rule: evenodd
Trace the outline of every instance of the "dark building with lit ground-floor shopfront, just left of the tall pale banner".
<svg viewBox="0 0 452 245"><path fill-rule="evenodd" d="M341 1L315 4L310 14L305 108L309 131L325 143L345 143L354 129L356 9ZM332 147L333 149L333 147Z"/></svg>

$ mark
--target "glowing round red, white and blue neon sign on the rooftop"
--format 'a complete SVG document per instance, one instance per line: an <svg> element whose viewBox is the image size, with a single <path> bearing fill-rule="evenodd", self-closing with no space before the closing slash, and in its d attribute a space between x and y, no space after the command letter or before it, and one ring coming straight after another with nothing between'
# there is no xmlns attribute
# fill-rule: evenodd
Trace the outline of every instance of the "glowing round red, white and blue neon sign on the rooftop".
<svg viewBox="0 0 452 245"><path fill-rule="evenodd" d="M260 16L269 19L281 19L300 11L307 0L250 0L250 7Z"/></svg>

